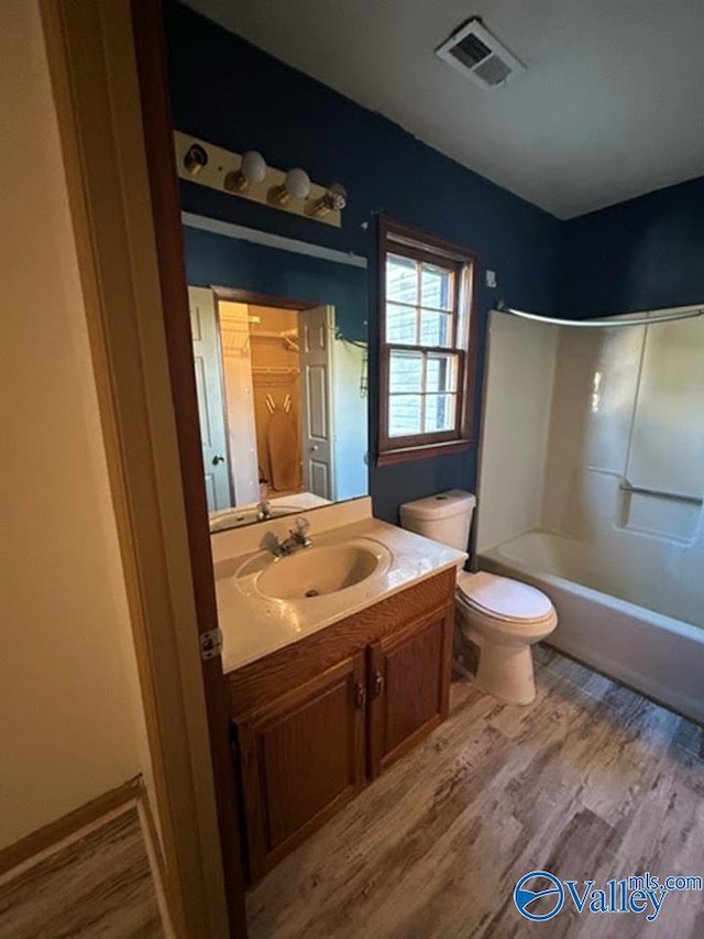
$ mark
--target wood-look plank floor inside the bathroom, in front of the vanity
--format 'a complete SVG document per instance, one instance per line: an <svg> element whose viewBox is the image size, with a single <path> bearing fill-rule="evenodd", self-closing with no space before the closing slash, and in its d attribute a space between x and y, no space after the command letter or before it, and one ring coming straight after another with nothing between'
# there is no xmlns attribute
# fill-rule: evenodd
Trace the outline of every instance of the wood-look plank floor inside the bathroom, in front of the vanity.
<svg viewBox="0 0 704 939"><path fill-rule="evenodd" d="M248 897L250 939L702 939L704 894L529 922L534 870L704 876L702 731L548 648L538 698L452 688L450 719ZM650 911L650 910L647 910Z"/></svg>

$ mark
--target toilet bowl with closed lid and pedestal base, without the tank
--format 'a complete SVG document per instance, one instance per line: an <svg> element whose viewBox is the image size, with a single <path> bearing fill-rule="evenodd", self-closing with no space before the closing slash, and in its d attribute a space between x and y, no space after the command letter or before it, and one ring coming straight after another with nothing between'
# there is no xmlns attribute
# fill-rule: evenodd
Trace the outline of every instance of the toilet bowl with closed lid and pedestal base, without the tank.
<svg viewBox="0 0 704 939"><path fill-rule="evenodd" d="M530 646L558 625L544 593L494 574L461 571L457 627L480 651L475 681L482 690L514 705L536 697Z"/></svg>

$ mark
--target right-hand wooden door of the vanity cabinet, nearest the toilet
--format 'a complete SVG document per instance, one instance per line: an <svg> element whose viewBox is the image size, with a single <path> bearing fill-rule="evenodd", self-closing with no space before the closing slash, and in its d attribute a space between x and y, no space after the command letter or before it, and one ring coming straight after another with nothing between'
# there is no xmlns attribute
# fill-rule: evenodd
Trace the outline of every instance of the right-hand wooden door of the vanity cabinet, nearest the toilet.
<svg viewBox="0 0 704 939"><path fill-rule="evenodd" d="M453 610L370 646L370 776L448 716Z"/></svg>

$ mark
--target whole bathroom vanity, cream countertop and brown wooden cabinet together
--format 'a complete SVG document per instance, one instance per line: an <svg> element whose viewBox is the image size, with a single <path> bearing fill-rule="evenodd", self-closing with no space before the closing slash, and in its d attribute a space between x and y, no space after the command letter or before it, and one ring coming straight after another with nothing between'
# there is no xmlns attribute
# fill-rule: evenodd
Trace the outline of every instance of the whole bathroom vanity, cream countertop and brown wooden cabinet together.
<svg viewBox="0 0 704 939"><path fill-rule="evenodd" d="M314 547L278 561L248 550L246 535L230 546L218 539L234 532L213 537L252 882L447 717L464 555L372 518L369 502L310 513ZM355 550L375 554L371 572ZM287 574L297 558L298 597ZM329 580L340 564L363 576L302 596L311 576Z"/></svg>

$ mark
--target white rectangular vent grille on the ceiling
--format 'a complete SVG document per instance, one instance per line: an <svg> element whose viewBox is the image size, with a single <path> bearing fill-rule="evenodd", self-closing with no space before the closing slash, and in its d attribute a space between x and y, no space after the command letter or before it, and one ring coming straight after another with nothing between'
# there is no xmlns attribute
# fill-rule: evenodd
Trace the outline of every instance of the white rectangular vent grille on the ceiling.
<svg viewBox="0 0 704 939"><path fill-rule="evenodd" d="M450 39L436 50L436 54L471 78L475 85L488 90L505 85L526 70L526 66L477 19L469 20L457 29Z"/></svg>

